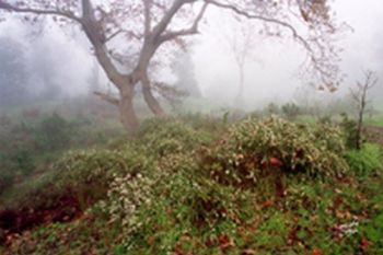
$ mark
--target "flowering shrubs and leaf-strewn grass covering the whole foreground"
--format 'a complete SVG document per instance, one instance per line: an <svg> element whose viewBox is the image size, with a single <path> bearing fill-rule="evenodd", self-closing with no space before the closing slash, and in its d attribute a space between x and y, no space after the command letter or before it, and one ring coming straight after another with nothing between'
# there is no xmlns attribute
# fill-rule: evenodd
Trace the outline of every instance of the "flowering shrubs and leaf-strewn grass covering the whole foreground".
<svg viewBox="0 0 383 255"><path fill-rule="evenodd" d="M11 235L0 252L380 254L382 151L348 150L345 137L328 121L187 115L93 149L62 146L77 149L2 200L37 211L70 195L66 210L78 213Z"/></svg>

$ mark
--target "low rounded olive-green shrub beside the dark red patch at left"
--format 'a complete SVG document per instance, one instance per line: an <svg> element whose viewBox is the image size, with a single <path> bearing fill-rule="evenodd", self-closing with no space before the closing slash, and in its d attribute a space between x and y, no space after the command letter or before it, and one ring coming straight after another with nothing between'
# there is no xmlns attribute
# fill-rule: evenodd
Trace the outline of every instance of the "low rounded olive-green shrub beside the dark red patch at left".
<svg viewBox="0 0 383 255"><path fill-rule="evenodd" d="M55 164L54 182L59 190L70 190L89 204L106 197L116 174L136 175L150 167L150 157L134 144L119 150L69 152Z"/></svg>

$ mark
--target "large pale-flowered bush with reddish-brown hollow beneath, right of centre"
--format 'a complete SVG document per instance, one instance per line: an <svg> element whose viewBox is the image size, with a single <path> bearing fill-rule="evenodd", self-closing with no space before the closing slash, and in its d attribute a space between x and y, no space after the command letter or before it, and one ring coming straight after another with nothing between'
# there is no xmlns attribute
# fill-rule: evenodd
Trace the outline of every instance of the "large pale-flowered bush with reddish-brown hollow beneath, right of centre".
<svg viewBox="0 0 383 255"><path fill-rule="evenodd" d="M279 117L234 125L228 139L204 151L204 167L223 183L254 186L269 174L340 176L348 169L343 159L339 130L328 125L311 128Z"/></svg>

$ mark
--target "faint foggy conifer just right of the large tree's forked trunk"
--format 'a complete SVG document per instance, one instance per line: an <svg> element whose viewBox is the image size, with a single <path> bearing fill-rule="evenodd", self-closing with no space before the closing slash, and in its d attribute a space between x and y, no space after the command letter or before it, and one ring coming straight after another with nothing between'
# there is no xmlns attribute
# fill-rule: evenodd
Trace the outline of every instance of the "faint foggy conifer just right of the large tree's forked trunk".
<svg viewBox="0 0 383 255"><path fill-rule="evenodd" d="M174 76L176 77L175 88L185 92L189 97L201 97L201 92L196 80L195 67L192 55L187 50L178 51L174 56L172 63Z"/></svg>

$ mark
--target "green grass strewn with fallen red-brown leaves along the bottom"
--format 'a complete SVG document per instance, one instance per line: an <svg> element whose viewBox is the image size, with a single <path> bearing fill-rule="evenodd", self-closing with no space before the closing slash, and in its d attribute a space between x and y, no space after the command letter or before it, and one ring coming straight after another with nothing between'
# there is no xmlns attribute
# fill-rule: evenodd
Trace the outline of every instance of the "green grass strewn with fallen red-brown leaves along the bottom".
<svg viewBox="0 0 383 255"><path fill-rule="evenodd" d="M195 123L204 131L198 143L205 144L225 134L225 127L207 118ZM176 142L161 142L161 151L178 148ZM124 147L117 148L125 153ZM188 154L186 150L178 152ZM165 161L173 159L172 153ZM248 194L248 204L234 208L240 211L234 227L233 221L223 220L202 231L202 225L185 227L185 222L169 221L169 215L160 213L164 217L156 221L160 225L152 225L153 230L141 232L141 236L140 233L127 236L120 224L109 220L108 213L93 207L71 223L49 223L24 233L3 254L380 254L383 252L383 175L370 169L363 172L363 167L341 179L298 181L288 176L283 197L276 197L272 188L267 188L272 182L265 178L259 188ZM183 184L176 187L184 190ZM181 207L179 213L183 210L188 210L187 205ZM179 229L183 231L178 232Z"/></svg>

